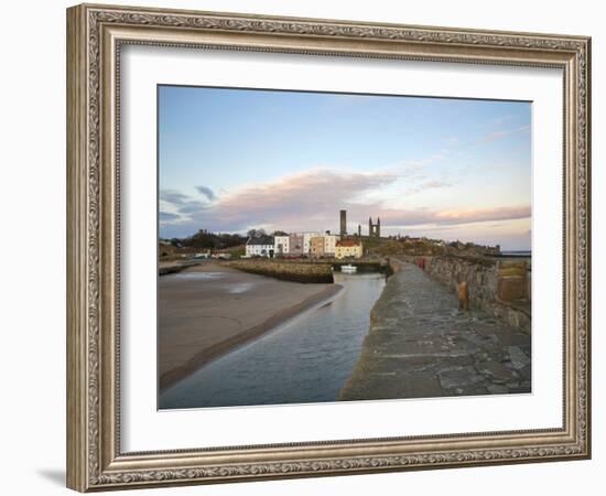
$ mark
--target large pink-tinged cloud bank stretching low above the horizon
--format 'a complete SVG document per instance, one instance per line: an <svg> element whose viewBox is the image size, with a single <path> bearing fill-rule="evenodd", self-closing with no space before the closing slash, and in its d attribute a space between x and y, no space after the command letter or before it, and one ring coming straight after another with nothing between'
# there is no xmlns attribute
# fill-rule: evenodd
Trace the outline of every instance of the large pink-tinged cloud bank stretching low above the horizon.
<svg viewBox="0 0 606 496"><path fill-rule="evenodd" d="M164 226L173 223L181 236L199 228L221 231L242 231L263 226L269 229L312 230L334 229L338 211L346 208L350 227L365 225L368 216L380 216L382 226L407 228L421 225L455 225L530 216L530 206L495 207L467 211L433 211L428 208L387 208L381 200L357 203L366 193L391 185L398 175L391 172L358 173L329 169L314 169L292 174L278 181L239 187L217 197L213 204L192 208L196 201L186 195L178 200L178 218L165 217ZM426 181L419 188L447 187L441 181ZM171 192L174 193L174 192ZM166 197L166 195L164 195ZM173 234L175 235L175 234ZM171 235L172 236L172 235Z"/></svg>

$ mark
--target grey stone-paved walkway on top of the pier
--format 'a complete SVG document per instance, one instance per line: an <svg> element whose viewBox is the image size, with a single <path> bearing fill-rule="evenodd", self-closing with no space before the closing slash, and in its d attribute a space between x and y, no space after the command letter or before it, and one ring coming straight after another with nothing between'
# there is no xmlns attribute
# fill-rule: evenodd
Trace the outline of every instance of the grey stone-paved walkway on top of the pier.
<svg viewBox="0 0 606 496"><path fill-rule="evenodd" d="M530 335L403 263L389 278L340 400L531 392Z"/></svg>

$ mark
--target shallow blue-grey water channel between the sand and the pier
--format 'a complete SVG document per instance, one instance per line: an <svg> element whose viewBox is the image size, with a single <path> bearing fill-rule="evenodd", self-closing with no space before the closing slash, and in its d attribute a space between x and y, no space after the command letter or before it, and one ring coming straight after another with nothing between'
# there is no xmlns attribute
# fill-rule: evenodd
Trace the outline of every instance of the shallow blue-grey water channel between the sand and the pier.
<svg viewBox="0 0 606 496"><path fill-rule="evenodd" d="M385 278L335 273L335 282L344 288L331 302L202 367L164 391L160 408L334 401L357 362Z"/></svg>

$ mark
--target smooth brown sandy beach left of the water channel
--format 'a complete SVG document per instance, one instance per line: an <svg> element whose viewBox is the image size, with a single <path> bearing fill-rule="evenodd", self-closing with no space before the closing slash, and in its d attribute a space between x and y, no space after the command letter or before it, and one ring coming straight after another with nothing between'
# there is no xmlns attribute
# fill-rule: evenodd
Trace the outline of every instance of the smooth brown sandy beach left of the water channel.
<svg viewBox="0 0 606 496"><path fill-rule="evenodd" d="M160 388L326 300L338 284L302 284L201 263L159 282Z"/></svg>

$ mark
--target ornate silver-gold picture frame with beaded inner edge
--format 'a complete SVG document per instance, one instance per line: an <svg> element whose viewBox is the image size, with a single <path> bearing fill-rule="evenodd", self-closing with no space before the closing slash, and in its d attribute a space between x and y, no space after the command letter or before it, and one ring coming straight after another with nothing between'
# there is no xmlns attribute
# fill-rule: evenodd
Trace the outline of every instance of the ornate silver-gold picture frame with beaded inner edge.
<svg viewBox="0 0 606 496"><path fill-rule="evenodd" d="M127 45L559 68L563 395L559 428L127 452L120 424L120 63ZM82 4L67 10L67 486L79 490L591 456L591 40Z"/></svg>

